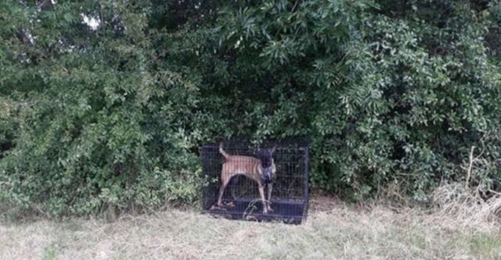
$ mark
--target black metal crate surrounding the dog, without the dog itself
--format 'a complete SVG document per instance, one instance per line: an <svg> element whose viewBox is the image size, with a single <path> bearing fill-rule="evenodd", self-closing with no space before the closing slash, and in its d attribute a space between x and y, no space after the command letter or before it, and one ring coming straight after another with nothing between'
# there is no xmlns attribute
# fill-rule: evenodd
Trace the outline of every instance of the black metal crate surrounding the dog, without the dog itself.
<svg viewBox="0 0 501 260"><path fill-rule="evenodd" d="M258 144L240 138L225 140L222 143L223 149L231 155L255 158L259 158L261 150L275 147L273 159L276 173L271 196L273 211L263 212L258 182L241 174L231 178L222 196L222 206L217 206L221 169L225 159L219 152L220 143L210 143L201 147L202 174L205 179L201 198L204 213L232 219L281 220L287 223L301 223L306 219L309 199L309 147L305 141L269 140Z"/></svg>

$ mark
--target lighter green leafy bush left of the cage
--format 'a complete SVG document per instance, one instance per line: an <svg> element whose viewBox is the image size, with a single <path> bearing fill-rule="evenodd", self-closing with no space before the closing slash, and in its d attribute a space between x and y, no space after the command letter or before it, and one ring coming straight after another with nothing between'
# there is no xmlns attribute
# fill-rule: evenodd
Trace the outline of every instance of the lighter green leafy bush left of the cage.
<svg viewBox="0 0 501 260"><path fill-rule="evenodd" d="M93 30L81 24L79 12L96 7L106 22ZM49 10L15 1L2 6L1 13L26 20L10 21L4 27L13 29L2 33L11 43L3 44L2 62L16 67L2 73L9 108L2 118L14 129L7 128L11 137L4 141L0 197L40 203L51 215L192 200L198 166L190 148L197 136L187 129L198 90L150 58L148 10L132 7L97 1L58 2ZM23 22L34 42L16 38Z"/></svg>

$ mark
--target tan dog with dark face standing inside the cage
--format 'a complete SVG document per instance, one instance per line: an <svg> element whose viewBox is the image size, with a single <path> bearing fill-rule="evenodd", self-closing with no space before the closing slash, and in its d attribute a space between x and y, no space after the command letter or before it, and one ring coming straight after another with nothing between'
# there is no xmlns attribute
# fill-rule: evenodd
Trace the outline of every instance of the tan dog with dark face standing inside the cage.
<svg viewBox="0 0 501 260"><path fill-rule="evenodd" d="M244 175L253 179L258 183L259 194L263 202L263 213L272 212L271 198L273 189L273 179L277 167L273 159L275 147L272 149L263 149L258 152L260 158L253 156L231 155L224 151L222 142L219 143L219 153L224 157L224 163L221 169L221 187L219 188L219 196L217 198L217 206L222 206L222 195L226 186L232 177L236 175ZM265 199L265 186L268 187L268 199Z"/></svg>

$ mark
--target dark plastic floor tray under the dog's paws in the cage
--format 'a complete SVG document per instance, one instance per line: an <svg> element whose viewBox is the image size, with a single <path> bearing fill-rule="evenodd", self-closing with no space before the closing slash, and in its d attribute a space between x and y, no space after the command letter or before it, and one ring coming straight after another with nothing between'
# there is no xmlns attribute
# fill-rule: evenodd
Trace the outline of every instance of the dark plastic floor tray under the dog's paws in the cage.
<svg viewBox="0 0 501 260"><path fill-rule="evenodd" d="M214 205L204 210L204 213L220 215L231 219L245 219L256 221L277 220L285 223L300 224L305 212L304 203L294 200L272 199L273 212L263 213L263 204L260 199L223 200L223 206Z"/></svg>

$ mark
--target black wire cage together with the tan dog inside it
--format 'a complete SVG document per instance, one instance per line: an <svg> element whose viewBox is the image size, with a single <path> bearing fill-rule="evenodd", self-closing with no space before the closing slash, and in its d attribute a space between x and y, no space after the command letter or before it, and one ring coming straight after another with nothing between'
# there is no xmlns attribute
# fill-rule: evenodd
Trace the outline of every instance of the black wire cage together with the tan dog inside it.
<svg viewBox="0 0 501 260"><path fill-rule="evenodd" d="M220 147L228 157L223 156ZM204 213L296 224L306 220L309 145L305 140L229 139L203 145L201 160L205 180L201 194Z"/></svg>

